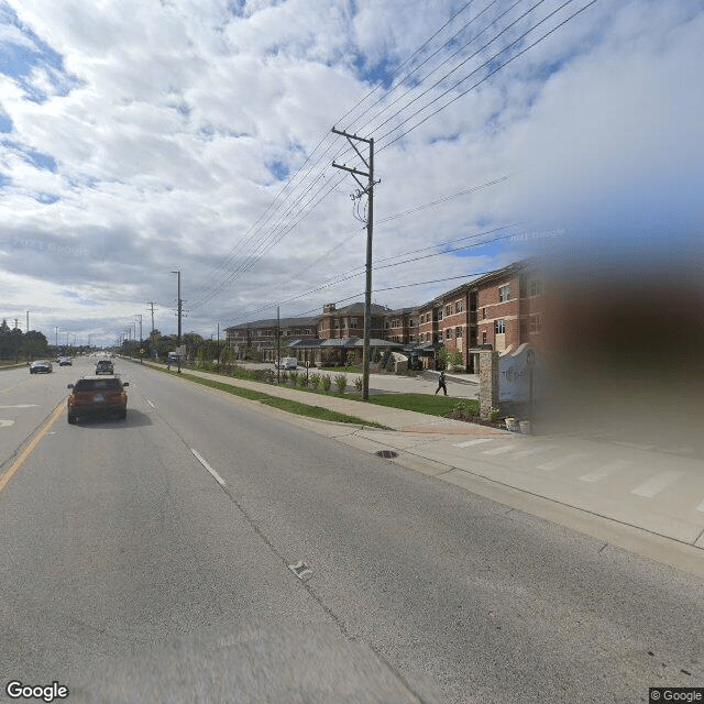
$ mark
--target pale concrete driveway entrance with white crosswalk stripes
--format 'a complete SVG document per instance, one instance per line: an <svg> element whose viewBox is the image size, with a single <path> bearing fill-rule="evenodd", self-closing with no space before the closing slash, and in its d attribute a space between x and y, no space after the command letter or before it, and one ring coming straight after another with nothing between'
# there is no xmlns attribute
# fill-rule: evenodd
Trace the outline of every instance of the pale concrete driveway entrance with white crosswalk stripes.
<svg viewBox="0 0 704 704"><path fill-rule="evenodd" d="M479 474L694 544L704 536L704 462L594 441L503 436L436 444L453 472ZM422 450L421 450L422 451Z"/></svg>

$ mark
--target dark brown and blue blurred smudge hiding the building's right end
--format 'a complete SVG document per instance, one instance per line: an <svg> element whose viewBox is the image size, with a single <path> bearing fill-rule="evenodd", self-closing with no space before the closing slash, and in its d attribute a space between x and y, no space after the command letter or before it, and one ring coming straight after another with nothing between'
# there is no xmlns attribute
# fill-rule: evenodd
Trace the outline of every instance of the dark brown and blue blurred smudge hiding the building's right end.
<svg viewBox="0 0 704 704"><path fill-rule="evenodd" d="M571 238L541 261L550 388L536 429L704 450L701 238Z"/></svg>

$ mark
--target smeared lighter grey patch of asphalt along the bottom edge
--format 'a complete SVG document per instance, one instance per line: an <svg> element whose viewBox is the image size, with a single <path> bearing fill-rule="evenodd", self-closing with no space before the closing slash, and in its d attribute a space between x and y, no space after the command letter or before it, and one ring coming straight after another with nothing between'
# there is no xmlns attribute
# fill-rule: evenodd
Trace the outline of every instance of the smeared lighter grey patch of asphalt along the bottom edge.
<svg viewBox="0 0 704 704"><path fill-rule="evenodd" d="M411 704L440 702L334 626L226 626L155 642L69 676L70 698L90 704Z"/></svg>

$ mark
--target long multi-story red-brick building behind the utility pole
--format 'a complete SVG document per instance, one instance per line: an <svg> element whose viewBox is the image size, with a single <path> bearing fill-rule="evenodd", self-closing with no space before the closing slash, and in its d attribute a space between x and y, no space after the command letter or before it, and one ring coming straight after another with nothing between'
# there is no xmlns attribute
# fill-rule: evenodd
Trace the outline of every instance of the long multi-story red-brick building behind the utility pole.
<svg viewBox="0 0 704 704"><path fill-rule="evenodd" d="M462 366L471 372L479 369L480 349L503 352L524 342L540 346L544 306L539 270L532 262L516 262L414 308L373 305L370 337L374 346L403 348L425 366L435 366L444 346L460 352ZM361 361L364 304L327 304L320 317L287 318L279 326L284 344L296 342L293 350L301 360ZM227 334L240 358L258 352L273 360L276 354L276 319L234 326Z"/></svg>

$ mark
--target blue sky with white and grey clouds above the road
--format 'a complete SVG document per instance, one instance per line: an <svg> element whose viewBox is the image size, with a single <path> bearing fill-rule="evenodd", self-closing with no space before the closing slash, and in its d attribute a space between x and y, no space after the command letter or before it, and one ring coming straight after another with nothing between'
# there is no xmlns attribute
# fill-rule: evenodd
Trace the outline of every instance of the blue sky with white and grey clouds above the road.
<svg viewBox="0 0 704 704"><path fill-rule="evenodd" d="M174 271L204 337L362 300L333 127L378 304L701 241L703 75L701 0L0 0L0 318L172 333Z"/></svg>

